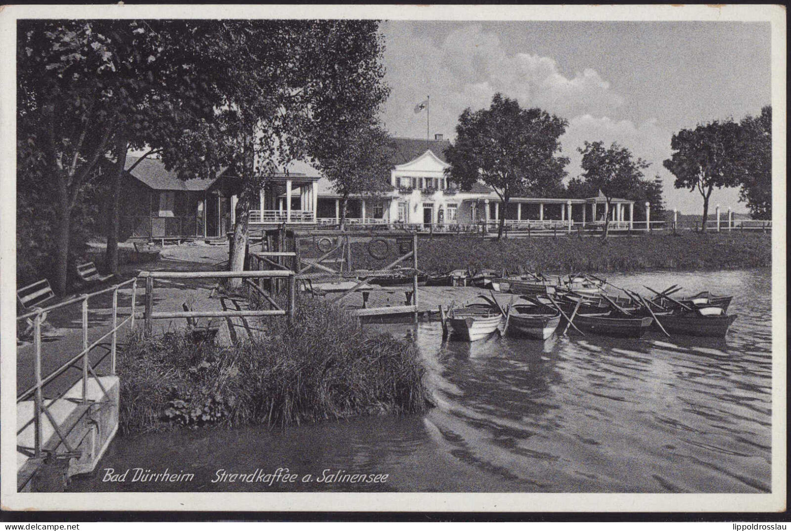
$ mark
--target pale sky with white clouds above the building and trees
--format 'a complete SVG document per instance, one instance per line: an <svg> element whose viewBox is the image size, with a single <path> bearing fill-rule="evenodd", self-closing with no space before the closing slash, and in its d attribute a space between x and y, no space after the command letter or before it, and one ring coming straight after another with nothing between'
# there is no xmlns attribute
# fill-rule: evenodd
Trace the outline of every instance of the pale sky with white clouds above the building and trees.
<svg viewBox="0 0 791 531"><path fill-rule="evenodd" d="M624 145L651 163L668 209L701 213L697 191L677 190L662 166L672 134L698 123L757 115L770 104L770 24L745 22L457 22L384 21L382 119L390 134L453 140L466 107L489 107L495 92L522 107L541 107L569 121L561 137L581 173L577 147ZM738 189L714 190L711 208L737 213Z"/></svg>

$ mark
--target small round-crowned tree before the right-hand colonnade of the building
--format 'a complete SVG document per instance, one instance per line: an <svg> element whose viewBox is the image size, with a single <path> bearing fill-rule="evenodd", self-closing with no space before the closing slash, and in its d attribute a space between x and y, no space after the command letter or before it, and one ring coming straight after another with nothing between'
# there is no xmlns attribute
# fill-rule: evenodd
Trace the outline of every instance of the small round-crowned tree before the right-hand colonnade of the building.
<svg viewBox="0 0 791 531"><path fill-rule="evenodd" d="M582 153L581 183L585 183L588 190L600 190L607 201L602 235L602 239L606 240L613 213L612 199L634 194L635 190L644 185L642 170L650 164L639 157L634 159L629 149L615 142L605 148L602 141L585 141L585 146L577 150Z"/></svg>

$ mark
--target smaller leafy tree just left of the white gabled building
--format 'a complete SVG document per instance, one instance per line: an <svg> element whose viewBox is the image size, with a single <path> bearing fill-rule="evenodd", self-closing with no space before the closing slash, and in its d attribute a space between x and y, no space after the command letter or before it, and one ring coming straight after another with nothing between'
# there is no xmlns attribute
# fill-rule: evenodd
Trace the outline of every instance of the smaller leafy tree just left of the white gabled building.
<svg viewBox="0 0 791 531"><path fill-rule="evenodd" d="M377 123L364 124L339 134L327 134L312 151L317 169L341 194L341 227L351 194L377 195L386 191L394 149Z"/></svg>

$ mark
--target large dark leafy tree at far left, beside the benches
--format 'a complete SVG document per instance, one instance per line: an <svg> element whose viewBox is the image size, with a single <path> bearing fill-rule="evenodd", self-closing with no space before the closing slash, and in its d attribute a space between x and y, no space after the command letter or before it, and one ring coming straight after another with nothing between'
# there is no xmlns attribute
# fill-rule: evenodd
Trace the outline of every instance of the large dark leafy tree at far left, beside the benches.
<svg viewBox="0 0 791 531"><path fill-rule="evenodd" d="M172 21L21 21L17 33L17 139L20 175L40 178L55 195L55 288L66 290L72 213L100 160L115 151L123 164L123 136L141 142L160 124L146 123L146 108L162 107L165 90L179 93L180 108L196 107L197 58ZM205 86L205 85L203 85ZM163 90L165 88L165 90ZM212 105L198 105L210 113ZM161 131L161 129L159 129ZM195 176L195 175L192 175ZM106 175L104 175L106 178ZM115 198L119 193L115 186ZM117 207L117 200L114 201ZM117 214L117 208L116 214ZM117 241L117 237L116 237Z"/></svg>

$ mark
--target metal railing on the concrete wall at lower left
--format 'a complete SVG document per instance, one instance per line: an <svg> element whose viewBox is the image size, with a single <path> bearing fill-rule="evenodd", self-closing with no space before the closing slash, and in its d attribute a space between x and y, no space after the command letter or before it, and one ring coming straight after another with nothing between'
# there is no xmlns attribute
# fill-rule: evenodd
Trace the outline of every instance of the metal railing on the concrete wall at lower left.
<svg viewBox="0 0 791 531"><path fill-rule="evenodd" d="M66 372L69 367L72 367L74 363L78 363L78 361L82 361L82 403L85 404L88 402L87 393L88 393L88 378L89 375L95 378L97 384L99 385L100 389L102 390L103 396L106 397L108 391L104 389L100 378L97 376L96 368L99 364L104 361L109 354L110 357L110 375L115 375L115 351L116 345L118 340L118 330L129 323L130 330L134 330L134 308L135 308L135 296L137 294L137 283L138 280L133 278L129 281L122 282L120 284L115 284L110 288L101 289L97 292L93 292L90 294L84 294L78 296L74 299L63 301L62 303L53 304L50 307L46 308L37 308L36 311L29 312L27 314L21 315L17 317L17 321L21 321L22 319L33 318L33 350L34 350L34 360L33 360L33 372L34 377L36 379L36 383L30 386L27 390L23 391L21 394L17 395L17 404L19 402L24 401L25 399L29 398L33 395L33 424L34 424L34 443L33 443L33 457L40 458L41 457L41 446L44 444L42 441L42 424L41 424L41 415L47 416L49 419L50 424L52 425L55 434L58 435L59 439L66 446L66 450L69 452L73 452L74 449L70 446L69 442L66 440L66 435L63 434L63 431L58 427L58 423L55 422L51 412L47 409L47 405L44 404L44 386L53 382L55 378L58 378L64 372ZM131 300L131 311L129 317L123 319L122 322L118 322L118 290L123 288L123 286L127 286L131 284L131 291L132 291L132 300ZM103 293L112 292L112 329L105 333L102 337L93 341L93 343L88 343L88 309L89 304L88 301L94 296L101 295ZM59 368L55 369L55 371L51 372L50 375L47 375L46 378L41 377L41 323L44 322L44 317L50 311L57 310L62 307L70 306L72 304L82 304L82 351L77 355L72 357L66 363L63 363ZM105 354L100 358L99 361L95 364L91 364L89 360L89 352L96 348L102 341L107 339L108 337L112 337L110 352ZM50 404L52 404L56 399L53 399ZM28 424L25 424L22 427L17 427L17 435L19 435L22 431L28 427ZM68 433L68 431L66 431ZM20 449L20 450L29 450L29 449Z"/></svg>

